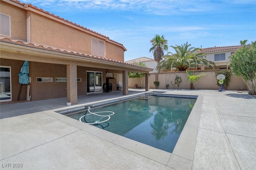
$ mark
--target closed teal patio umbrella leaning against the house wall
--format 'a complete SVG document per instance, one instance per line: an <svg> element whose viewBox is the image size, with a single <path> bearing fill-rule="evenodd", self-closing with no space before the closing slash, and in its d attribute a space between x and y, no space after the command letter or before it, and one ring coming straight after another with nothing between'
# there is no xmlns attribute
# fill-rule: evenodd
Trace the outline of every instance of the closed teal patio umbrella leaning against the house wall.
<svg viewBox="0 0 256 170"><path fill-rule="evenodd" d="M29 73L28 61L24 61L23 65L20 69L20 73L18 73L19 83L20 83L20 92L21 92L21 88L22 88L23 84L26 84L26 85L29 84L28 73ZM20 93L19 93L18 101L19 100L20 100Z"/></svg>

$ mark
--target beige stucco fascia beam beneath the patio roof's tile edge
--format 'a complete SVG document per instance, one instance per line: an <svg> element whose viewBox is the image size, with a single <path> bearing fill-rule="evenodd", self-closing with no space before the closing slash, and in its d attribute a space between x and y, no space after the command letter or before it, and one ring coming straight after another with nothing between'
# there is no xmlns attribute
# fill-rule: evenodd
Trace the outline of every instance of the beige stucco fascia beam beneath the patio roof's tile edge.
<svg viewBox="0 0 256 170"><path fill-rule="evenodd" d="M40 45L38 45L40 46ZM6 41L0 41L0 50L2 51L8 51L8 52L13 52L13 53L19 53L19 55L24 54L28 55L27 58L16 58L19 60L29 60L29 61L35 61L35 62L49 62L52 63L52 61L48 61L46 58L51 58L51 59L58 59L56 61L56 64L67 64L69 61L72 62L77 62L78 65L80 64L81 66L84 64L90 63L89 66L92 66L91 63L93 64L102 64L106 68L109 69L110 67L115 67L117 70L128 70L128 71L141 71L141 72L148 72L152 71L152 68L148 67L141 67L138 65L133 65L129 63L125 63L122 61L117 61L117 60L112 60L112 59L106 59L103 57L97 57L93 55L88 55L84 53L77 53L73 51L66 51L66 50L60 50L60 49L50 49L50 47L46 48L40 48L40 47L35 47L31 45L24 45L24 44L18 44L15 42L6 42ZM29 56L36 55L40 56L34 60L31 60ZM1 56L2 57L2 56ZM10 57L9 59L15 59ZM60 61L62 60L62 61ZM102 68L102 67L100 67Z"/></svg>

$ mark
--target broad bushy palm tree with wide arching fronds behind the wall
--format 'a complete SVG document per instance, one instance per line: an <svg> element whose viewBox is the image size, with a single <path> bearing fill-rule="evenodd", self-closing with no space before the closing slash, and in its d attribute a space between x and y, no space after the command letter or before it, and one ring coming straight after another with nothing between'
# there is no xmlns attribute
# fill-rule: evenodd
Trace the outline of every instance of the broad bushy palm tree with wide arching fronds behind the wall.
<svg viewBox="0 0 256 170"><path fill-rule="evenodd" d="M204 65L210 69L214 69L216 64L206 59L206 53L203 53L202 49L190 46L191 44L188 44L188 42L181 46L170 46L176 51L176 53L168 52L167 55L164 55L164 60L157 64L156 69L160 71L174 67L176 68L176 71L186 71L188 68L197 67L199 65Z"/></svg>

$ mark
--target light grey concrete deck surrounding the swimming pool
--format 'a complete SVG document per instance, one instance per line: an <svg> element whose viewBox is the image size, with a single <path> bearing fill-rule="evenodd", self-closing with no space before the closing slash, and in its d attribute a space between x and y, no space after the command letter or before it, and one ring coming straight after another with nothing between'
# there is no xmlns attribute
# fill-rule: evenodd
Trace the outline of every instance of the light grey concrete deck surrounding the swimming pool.
<svg viewBox="0 0 256 170"><path fill-rule="evenodd" d="M172 154L54 112L63 107L127 97L115 91L79 96L78 105L71 107L66 106L66 98L1 104L1 169L19 164L23 169L33 170L256 167L255 97L236 91L151 91L198 95L190 114L193 116L189 117ZM132 95L141 92L129 89Z"/></svg>

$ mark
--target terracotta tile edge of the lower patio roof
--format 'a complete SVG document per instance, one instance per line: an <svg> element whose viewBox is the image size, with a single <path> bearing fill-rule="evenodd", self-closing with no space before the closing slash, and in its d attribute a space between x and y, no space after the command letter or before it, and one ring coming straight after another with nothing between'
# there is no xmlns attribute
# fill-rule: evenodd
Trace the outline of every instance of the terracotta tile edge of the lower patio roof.
<svg viewBox="0 0 256 170"><path fill-rule="evenodd" d="M120 63L120 64L123 64L123 65L133 65L133 66L136 66L136 67L143 67L143 68L146 68L146 69L152 69L150 67L144 67L144 66L135 65L135 64L132 64L132 63L126 63L124 61L118 61L118 60L114 60L114 59L108 59L108 58L105 58L105 57L99 57L99 56L94 56L94 55L90 55L90 54L80 53L80 52L77 52L77 51L71 51L71 50L67 50L67 49L60 49L60 48L56 48L56 47L51 47L51 46L46 46L46 45L36 44L36 43L31 43L31 42L23 42L22 40L11 40L10 38L6 38L6 37L1 37L0 41L15 43L15 44L19 44L19 45L26 45L26 46L36 47L36 48L41 48L41 49L47 49L47 50L50 50L50 51L57 51L57 52L62 52L62 53L74 54L74 55L79 55L79 56L82 56L82 57L94 58L94 59L99 59L99 60L103 60L103 61L110 61L110 62L114 62L114 63Z"/></svg>

